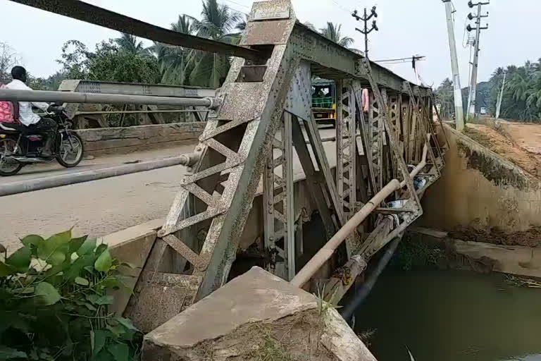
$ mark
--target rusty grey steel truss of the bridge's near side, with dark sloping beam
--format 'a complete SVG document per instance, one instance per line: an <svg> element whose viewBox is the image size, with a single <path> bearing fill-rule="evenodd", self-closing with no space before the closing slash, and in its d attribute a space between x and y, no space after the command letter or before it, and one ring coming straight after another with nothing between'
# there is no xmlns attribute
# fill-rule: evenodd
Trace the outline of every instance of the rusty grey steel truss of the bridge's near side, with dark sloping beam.
<svg viewBox="0 0 541 361"><path fill-rule="evenodd" d="M182 189L139 278L139 283L174 285L164 292L175 293L178 310L227 281L261 179L268 271L304 286L345 244L347 261L325 286L327 297L337 302L373 255L421 216L420 199L441 176L448 144L444 133L440 139L436 135L433 92L302 25L289 0L255 2L238 47L171 32L82 1L14 1L168 44L235 56L216 94L218 106L190 158L192 173L179 180ZM311 113L313 75L337 85L334 170ZM367 114L363 88L370 90ZM294 153L328 239L298 273ZM174 267L163 261L168 247L177 252ZM152 288L147 289L134 302L148 304Z"/></svg>

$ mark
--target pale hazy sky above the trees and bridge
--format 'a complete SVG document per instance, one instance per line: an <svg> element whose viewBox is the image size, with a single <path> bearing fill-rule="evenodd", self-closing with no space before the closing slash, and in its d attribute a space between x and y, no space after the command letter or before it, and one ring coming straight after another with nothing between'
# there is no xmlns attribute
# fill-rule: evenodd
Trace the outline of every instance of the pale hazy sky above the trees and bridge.
<svg viewBox="0 0 541 361"><path fill-rule="evenodd" d="M200 18L201 0L86 0L126 16L169 27L178 14ZM459 58L461 85L468 85L469 49L463 47L464 27L469 12L468 0L452 0ZM486 1L486 0L483 0ZM218 0L235 11L249 13L252 0ZM361 27L350 15L354 9L377 6L378 32L369 35L372 60L396 59L414 54L426 56L418 63L423 80L428 85L439 85L444 78L452 78L449 42L444 4L441 0L292 0L297 18L309 21L316 28L327 21L342 24L342 34L354 38L352 47L363 49L364 39L355 27ZM522 65L526 60L541 58L541 0L492 0L483 6L489 24L480 37L479 81L488 80L498 66ZM23 66L32 75L46 77L59 70L56 59L62 44L77 39L94 49L103 39L118 37L118 32L83 23L29 6L0 0L0 42L7 42L20 55ZM473 22L472 26L473 26ZM473 33L472 33L473 35ZM147 42L151 44L151 42ZM411 63L387 66L402 77L413 80Z"/></svg>

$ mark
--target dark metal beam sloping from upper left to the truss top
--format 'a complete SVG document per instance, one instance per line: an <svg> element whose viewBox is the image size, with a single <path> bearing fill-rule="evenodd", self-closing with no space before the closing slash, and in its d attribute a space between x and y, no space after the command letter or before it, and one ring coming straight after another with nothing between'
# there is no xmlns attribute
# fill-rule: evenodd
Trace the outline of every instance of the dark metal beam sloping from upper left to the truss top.
<svg viewBox="0 0 541 361"><path fill-rule="evenodd" d="M163 27L144 23L141 20L124 16L114 11L87 4L80 0L11 0L18 4L40 8L58 15L68 16L87 23L107 27L109 29L127 32L144 39L162 42L164 44L176 45L199 49L212 53L220 53L230 56L239 56L244 59L259 59L261 54L254 49L237 47L223 42L216 42L211 39L195 37L193 35L175 32Z"/></svg>

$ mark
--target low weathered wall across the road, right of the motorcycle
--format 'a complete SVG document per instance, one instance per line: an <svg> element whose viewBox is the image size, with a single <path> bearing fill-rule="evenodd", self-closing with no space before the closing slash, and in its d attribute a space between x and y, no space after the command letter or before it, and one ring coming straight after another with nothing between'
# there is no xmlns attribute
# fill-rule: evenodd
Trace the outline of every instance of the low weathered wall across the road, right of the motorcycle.
<svg viewBox="0 0 541 361"><path fill-rule="evenodd" d="M206 123L170 123L125 128L77 130L87 154L123 154L140 149L197 142Z"/></svg>

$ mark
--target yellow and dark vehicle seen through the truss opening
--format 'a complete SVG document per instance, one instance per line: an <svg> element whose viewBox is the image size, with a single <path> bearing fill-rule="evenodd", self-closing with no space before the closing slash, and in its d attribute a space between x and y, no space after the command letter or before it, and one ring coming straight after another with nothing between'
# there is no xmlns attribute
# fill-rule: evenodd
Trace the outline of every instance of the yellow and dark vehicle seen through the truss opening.
<svg viewBox="0 0 541 361"><path fill-rule="evenodd" d="M319 124L336 124L336 85L332 80L312 80L312 113Z"/></svg>

